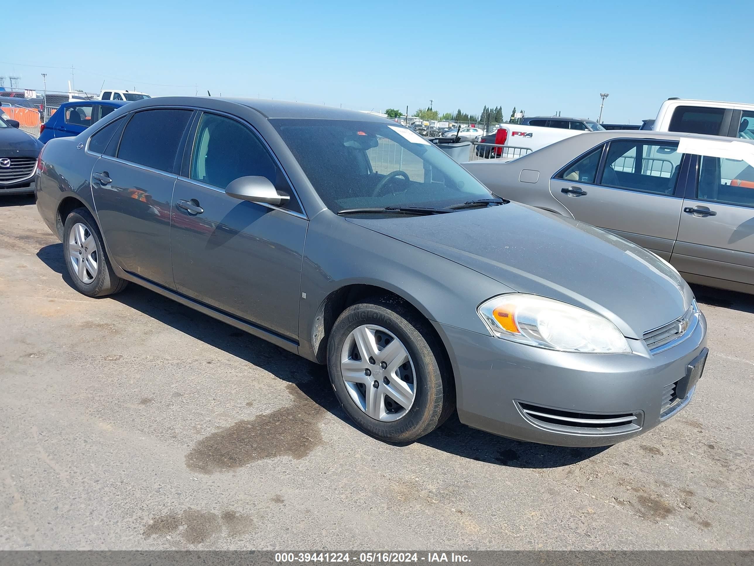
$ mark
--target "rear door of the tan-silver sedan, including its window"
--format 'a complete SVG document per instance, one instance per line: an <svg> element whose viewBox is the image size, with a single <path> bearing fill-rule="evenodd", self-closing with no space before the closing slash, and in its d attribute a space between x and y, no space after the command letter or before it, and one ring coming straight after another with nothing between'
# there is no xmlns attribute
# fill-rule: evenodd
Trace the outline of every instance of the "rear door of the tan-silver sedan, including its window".
<svg viewBox="0 0 754 566"><path fill-rule="evenodd" d="M559 171L550 192L576 220L670 259L683 205L677 149L672 141L611 140Z"/></svg>

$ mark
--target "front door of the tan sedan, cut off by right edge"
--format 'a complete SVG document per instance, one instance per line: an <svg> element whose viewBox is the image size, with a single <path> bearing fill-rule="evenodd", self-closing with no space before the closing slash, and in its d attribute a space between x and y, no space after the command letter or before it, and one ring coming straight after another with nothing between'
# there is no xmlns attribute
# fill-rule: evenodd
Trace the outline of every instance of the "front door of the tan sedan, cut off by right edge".
<svg viewBox="0 0 754 566"><path fill-rule="evenodd" d="M754 167L707 155L695 165L670 261L680 272L754 285Z"/></svg>

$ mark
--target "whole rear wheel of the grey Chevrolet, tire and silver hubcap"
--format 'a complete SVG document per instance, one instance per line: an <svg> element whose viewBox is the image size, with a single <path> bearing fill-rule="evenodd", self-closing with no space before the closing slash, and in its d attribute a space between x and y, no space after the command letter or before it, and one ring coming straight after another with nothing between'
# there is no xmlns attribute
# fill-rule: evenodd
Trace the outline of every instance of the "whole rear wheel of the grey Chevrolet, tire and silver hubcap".
<svg viewBox="0 0 754 566"><path fill-rule="evenodd" d="M100 229L86 208L77 208L66 217L63 259L74 287L87 297L105 297L127 285L113 272Z"/></svg>

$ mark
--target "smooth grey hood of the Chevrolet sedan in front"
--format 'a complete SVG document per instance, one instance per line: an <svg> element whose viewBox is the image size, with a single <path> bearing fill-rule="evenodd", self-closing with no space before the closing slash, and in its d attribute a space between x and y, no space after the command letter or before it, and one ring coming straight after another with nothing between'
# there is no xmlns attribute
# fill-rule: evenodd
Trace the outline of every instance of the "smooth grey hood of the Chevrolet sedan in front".
<svg viewBox="0 0 754 566"><path fill-rule="evenodd" d="M651 252L526 205L351 222L460 263L513 291L597 312L633 339L681 316L694 298L678 272Z"/></svg>

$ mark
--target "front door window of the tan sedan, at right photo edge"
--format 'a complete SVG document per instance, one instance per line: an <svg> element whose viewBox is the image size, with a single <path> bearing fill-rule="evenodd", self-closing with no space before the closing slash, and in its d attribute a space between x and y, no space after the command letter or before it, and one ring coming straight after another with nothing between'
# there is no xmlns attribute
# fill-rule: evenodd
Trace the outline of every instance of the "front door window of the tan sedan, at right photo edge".
<svg viewBox="0 0 754 566"><path fill-rule="evenodd" d="M723 205L754 207L754 167L746 161L703 155L697 198Z"/></svg>

